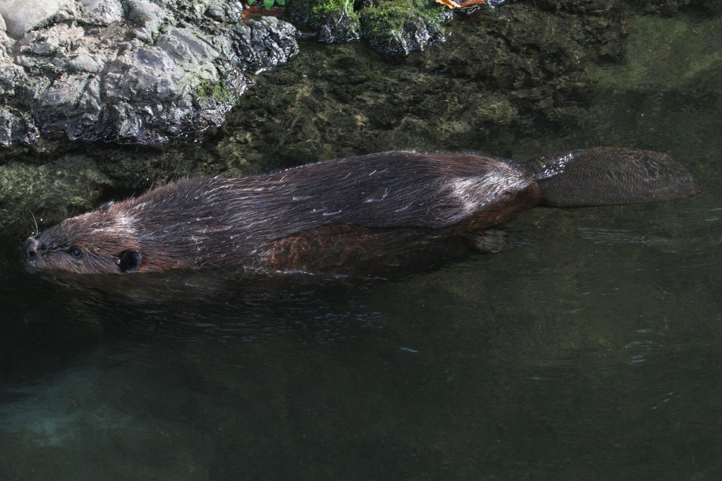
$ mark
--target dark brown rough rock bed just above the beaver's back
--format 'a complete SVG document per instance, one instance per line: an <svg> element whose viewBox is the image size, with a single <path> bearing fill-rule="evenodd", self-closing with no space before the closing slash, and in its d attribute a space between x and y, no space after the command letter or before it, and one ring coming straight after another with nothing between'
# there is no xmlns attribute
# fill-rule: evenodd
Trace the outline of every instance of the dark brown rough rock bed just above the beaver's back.
<svg viewBox="0 0 722 481"><path fill-rule="evenodd" d="M559 3L508 2L492 16L458 17L446 25L449 41L403 61L308 45L267 74L282 88L240 101L217 157L279 168L409 146L510 155L519 142L582 131L599 64L622 59L623 5Z"/></svg>

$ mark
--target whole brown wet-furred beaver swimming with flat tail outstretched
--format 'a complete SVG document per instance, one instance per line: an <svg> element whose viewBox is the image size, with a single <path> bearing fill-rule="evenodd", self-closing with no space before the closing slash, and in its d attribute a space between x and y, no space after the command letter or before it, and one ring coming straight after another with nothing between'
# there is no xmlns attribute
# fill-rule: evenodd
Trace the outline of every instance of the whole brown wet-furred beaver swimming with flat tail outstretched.
<svg viewBox="0 0 722 481"><path fill-rule="evenodd" d="M598 147L527 164L473 153L382 152L249 178L189 178L108 202L25 242L37 270L115 274L200 266L360 272L451 255L535 205L697 194L668 155Z"/></svg>

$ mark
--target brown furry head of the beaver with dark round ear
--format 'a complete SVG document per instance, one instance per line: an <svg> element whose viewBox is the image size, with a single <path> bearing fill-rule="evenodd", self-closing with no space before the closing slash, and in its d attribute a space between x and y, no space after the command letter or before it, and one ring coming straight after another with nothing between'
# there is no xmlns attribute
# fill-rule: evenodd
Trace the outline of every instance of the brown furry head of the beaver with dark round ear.
<svg viewBox="0 0 722 481"><path fill-rule="evenodd" d="M33 270L113 274L135 272L143 256L134 219L108 202L28 238L25 259Z"/></svg>

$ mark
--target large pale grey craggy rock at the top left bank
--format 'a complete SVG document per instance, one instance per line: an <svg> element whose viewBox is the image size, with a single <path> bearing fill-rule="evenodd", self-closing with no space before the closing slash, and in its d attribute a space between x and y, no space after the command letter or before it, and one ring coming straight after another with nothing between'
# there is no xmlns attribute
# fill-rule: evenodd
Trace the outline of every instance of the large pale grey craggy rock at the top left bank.
<svg viewBox="0 0 722 481"><path fill-rule="evenodd" d="M298 52L295 27L242 13L220 0L0 1L0 145L155 144L219 126L244 70Z"/></svg>

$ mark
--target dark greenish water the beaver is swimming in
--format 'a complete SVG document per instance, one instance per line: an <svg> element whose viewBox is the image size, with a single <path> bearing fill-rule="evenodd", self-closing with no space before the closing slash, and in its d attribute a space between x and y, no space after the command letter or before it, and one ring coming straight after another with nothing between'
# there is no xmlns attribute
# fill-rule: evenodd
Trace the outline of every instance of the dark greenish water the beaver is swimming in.
<svg viewBox="0 0 722 481"><path fill-rule="evenodd" d="M670 152L693 199L536 209L513 248L402 280L134 300L27 276L3 238L0 480L718 479L722 30L634 25L583 126L496 148Z"/></svg>

